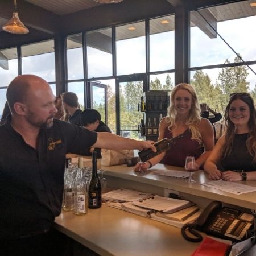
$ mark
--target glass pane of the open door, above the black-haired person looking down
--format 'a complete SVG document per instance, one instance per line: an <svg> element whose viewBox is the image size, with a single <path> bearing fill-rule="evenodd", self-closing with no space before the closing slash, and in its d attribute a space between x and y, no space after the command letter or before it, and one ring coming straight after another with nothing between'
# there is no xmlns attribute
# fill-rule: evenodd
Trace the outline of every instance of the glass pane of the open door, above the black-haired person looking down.
<svg viewBox="0 0 256 256"><path fill-rule="evenodd" d="M101 114L101 120L106 123L105 118L105 106L106 106L106 99L105 99L105 89L97 86L92 86L92 108L98 110Z"/></svg>

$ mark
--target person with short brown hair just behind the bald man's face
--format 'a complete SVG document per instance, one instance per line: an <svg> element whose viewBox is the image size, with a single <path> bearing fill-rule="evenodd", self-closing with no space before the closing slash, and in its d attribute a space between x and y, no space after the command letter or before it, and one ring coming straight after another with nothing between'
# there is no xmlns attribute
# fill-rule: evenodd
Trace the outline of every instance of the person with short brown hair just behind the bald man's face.
<svg viewBox="0 0 256 256"><path fill-rule="evenodd" d="M76 93L65 92L63 93L62 97L64 110L69 115L68 121L74 125L81 126L80 114L82 110L79 108L79 102Z"/></svg>

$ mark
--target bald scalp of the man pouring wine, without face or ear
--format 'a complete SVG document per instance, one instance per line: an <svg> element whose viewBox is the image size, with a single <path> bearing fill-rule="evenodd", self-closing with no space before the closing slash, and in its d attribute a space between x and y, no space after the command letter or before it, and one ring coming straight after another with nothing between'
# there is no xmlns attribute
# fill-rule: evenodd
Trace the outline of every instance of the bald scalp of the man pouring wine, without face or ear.
<svg viewBox="0 0 256 256"><path fill-rule="evenodd" d="M28 95L36 89L43 89L42 86L49 86L48 83L39 76L20 75L10 82L6 98L11 112L14 113L15 102L26 102Z"/></svg>

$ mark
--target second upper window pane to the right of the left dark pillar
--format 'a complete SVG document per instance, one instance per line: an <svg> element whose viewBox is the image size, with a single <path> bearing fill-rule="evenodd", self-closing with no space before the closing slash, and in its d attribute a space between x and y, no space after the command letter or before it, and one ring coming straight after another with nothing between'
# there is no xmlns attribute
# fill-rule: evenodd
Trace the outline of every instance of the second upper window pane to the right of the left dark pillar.
<svg viewBox="0 0 256 256"><path fill-rule="evenodd" d="M112 29L86 34L88 77L112 76Z"/></svg>

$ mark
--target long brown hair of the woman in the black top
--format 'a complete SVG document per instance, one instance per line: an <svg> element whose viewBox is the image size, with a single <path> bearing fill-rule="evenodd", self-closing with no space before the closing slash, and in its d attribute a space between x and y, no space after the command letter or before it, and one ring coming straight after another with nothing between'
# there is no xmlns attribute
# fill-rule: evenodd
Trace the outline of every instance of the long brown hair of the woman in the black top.
<svg viewBox="0 0 256 256"><path fill-rule="evenodd" d="M229 155L232 146L234 137L236 134L236 126L229 118L229 109L230 105L234 100L241 100L245 102L249 106L250 109L250 118L249 118L249 134L248 139L246 141L246 147L251 156L253 156L253 161L256 162L256 112L253 98L251 98L249 93L236 93L230 98L228 105L226 106L224 121L225 121L225 142L220 152L221 158L224 159L225 156Z"/></svg>

